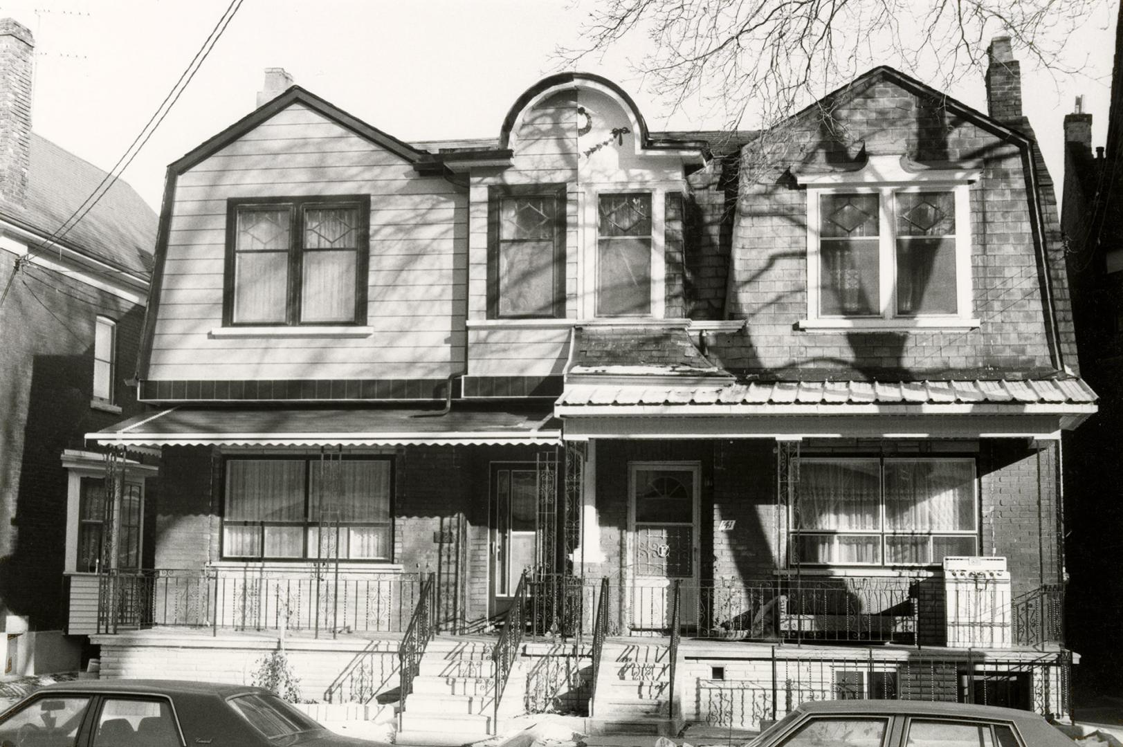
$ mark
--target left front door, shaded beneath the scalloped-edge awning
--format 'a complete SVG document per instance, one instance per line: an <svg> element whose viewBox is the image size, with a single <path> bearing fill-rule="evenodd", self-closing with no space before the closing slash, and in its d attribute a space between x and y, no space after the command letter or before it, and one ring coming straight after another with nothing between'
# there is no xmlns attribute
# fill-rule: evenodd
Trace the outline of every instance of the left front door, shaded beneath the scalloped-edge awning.
<svg viewBox="0 0 1123 747"><path fill-rule="evenodd" d="M533 462L491 470L491 616L506 611L537 557L538 472Z"/></svg>

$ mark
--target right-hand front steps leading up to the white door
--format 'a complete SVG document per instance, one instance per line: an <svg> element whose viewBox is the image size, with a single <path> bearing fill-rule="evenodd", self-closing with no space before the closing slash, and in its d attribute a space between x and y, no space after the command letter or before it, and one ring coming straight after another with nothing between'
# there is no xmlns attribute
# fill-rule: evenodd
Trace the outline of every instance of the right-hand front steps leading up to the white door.
<svg viewBox="0 0 1123 747"><path fill-rule="evenodd" d="M604 643L590 728L603 736L674 735L667 644Z"/></svg>

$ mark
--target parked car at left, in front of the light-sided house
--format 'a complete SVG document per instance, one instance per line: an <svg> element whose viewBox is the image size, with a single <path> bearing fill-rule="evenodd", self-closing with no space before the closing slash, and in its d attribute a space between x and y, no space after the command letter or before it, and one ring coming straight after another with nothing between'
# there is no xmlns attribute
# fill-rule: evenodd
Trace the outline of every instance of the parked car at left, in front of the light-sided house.
<svg viewBox="0 0 1123 747"><path fill-rule="evenodd" d="M171 680L48 685L0 714L0 747L373 747L262 687Z"/></svg>

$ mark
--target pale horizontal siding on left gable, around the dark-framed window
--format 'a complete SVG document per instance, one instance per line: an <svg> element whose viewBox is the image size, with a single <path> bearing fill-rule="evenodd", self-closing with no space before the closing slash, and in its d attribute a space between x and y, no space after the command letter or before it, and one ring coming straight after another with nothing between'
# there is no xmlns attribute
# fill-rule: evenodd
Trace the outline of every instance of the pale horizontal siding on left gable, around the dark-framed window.
<svg viewBox="0 0 1123 747"><path fill-rule="evenodd" d="M212 337L227 201L371 195L367 337ZM149 379L442 379L463 368L467 195L294 104L177 179Z"/></svg>

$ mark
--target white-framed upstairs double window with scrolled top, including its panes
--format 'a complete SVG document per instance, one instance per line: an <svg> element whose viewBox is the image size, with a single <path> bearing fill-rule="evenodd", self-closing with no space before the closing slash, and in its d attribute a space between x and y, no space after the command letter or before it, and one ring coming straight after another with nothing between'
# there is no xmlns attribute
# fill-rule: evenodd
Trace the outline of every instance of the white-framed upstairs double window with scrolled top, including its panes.
<svg viewBox="0 0 1123 747"><path fill-rule="evenodd" d="M875 156L807 186L804 328L978 326L971 319L968 183L977 172L910 171Z"/></svg>

